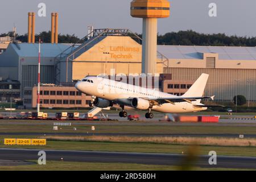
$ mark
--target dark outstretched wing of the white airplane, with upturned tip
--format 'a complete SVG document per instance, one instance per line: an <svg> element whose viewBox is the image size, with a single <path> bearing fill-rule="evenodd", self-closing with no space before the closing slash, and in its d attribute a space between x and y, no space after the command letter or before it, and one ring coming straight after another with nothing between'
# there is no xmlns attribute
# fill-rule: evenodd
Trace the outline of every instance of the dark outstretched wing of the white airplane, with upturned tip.
<svg viewBox="0 0 256 182"><path fill-rule="evenodd" d="M192 103L192 101L196 101L199 99L214 99L214 96L212 97L163 97L163 98L143 98L144 100L151 101L154 103L154 105L164 104L164 103L171 103L174 104L175 102L189 102Z"/></svg>

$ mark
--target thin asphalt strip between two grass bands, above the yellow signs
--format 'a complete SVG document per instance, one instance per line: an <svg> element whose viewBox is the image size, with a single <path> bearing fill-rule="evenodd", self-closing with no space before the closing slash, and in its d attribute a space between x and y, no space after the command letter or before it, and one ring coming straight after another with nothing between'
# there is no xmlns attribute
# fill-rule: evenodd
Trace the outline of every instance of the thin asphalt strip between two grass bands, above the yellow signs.
<svg viewBox="0 0 256 182"><path fill-rule="evenodd" d="M187 133L171 133L171 134L136 134L136 133L0 133L6 136L124 136L124 137L228 137L239 138L240 134L187 134ZM256 138L256 134L244 134L243 138Z"/></svg>

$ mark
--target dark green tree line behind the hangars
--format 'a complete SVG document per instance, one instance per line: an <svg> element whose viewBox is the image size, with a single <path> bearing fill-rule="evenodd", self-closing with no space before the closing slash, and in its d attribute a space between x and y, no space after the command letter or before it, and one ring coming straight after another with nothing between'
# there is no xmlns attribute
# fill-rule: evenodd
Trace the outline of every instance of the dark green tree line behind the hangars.
<svg viewBox="0 0 256 182"><path fill-rule="evenodd" d="M137 34L142 37L141 34ZM0 36L13 36L13 32L0 34ZM51 42L51 31L43 31L35 35L36 41L39 37L44 43ZM27 42L27 34L16 35L16 39L21 42ZM59 34L59 43L76 43L79 38L73 35ZM183 46L256 46L256 37L247 36L228 36L226 34L202 34L192 30L168 32L164 35L158 35L159 45L183 45Z"/></svg>

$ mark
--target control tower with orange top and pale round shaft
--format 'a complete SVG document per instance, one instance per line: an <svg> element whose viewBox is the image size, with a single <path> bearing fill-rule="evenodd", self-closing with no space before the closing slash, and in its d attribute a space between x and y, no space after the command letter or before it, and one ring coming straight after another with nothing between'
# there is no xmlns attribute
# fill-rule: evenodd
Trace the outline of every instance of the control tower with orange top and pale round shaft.
<svg viewBox="0 0 256 182"><path fill-rule="evenodd" d="M131 16L143 18L142 73L156 73L158 18L170 16L167 0L133 0Z"/></svg>

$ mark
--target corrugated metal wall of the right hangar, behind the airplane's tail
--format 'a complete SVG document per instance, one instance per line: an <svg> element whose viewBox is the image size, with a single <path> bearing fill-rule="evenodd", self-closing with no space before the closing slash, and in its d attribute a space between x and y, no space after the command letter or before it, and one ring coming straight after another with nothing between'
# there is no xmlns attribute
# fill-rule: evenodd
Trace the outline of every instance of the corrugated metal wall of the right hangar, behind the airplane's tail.
<svg viewBox="0 0 256 182"><path fill-rule="evenodd" d="M208 69L208 68L164 68L173 80L196 81L201 73L209 74L205 95L215 95L215 100L232 101L236 94L256 101L255 69ZM250 90L249 90L250 88Z"/></svg>

